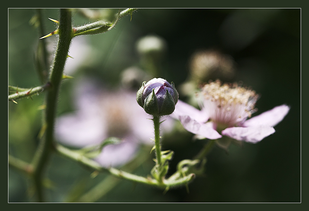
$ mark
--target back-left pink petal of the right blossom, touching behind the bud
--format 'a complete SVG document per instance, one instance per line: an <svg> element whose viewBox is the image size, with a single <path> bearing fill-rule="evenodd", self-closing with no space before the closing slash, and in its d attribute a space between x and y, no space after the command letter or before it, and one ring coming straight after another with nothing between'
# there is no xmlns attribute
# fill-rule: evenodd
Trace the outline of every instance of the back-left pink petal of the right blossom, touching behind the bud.
<svg viewBox="0 0 309 211"><path fill-rule="evenodd" d="M198 110L188 103L178 100L175 106L175 111L171 114L171 117L179 119L180 116L190 116L192 119L201 123L206 122L209 119L209 116L205 112Z"/></svg>

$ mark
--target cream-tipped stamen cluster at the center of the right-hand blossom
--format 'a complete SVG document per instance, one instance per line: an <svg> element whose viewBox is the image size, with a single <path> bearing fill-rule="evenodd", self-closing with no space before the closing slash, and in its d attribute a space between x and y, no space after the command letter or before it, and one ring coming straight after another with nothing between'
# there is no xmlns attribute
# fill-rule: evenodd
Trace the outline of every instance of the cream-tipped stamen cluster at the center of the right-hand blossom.
<svg viewBox="0 0 309 211"><path fill-rule="evenodd" d="M210 120L226 127L237 126L251 117L259 97L253 90L219 80L206 84L200 94L201 108L208 112Z"/></svg>

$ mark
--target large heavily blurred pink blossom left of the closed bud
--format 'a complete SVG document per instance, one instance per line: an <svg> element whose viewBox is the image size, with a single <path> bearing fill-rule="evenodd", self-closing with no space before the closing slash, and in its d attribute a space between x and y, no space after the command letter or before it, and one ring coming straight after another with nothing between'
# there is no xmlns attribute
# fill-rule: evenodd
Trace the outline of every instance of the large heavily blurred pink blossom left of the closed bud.
<svg viewBox="0 0 309 211"><path fill-rule="evenodd" d="M99 145L108 137L121 138L120 144L105 146L95 158L104 167L119 166L134 157L140 144L153 144L151 116L136 103L136 92L99 87L93 80L77 82L73 99L77 110L57 118L56 138L74 147Z"/></svg>

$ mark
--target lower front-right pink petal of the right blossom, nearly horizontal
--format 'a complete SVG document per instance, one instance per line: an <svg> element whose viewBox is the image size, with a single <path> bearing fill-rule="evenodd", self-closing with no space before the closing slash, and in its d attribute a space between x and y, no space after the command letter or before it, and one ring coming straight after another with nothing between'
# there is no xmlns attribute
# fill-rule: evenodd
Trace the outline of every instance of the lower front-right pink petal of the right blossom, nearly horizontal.
<svg viewBox="0 0 309 211"><path fill-rule="evenodd" d="M238 141L257 143L263 138L273 134L275 129L271 126L259 125L256 127L232 127L222 130L222 135L234 138Z"/></svg>

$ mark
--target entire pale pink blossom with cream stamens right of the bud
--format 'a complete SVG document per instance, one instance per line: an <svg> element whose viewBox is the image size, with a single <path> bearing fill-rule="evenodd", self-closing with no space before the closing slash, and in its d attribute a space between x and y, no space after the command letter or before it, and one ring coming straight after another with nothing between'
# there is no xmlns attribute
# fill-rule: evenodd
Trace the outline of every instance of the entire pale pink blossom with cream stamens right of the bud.
<svg viewBox="0 0 309 211"><path fill-rule="evenodd" d="M201 110L179 100L172 116L189 132L209 139L225 135L238 141L257 143L273 134L273 127L290 110L283 104L250 118L256 112L258 95L255 91L237 84L222 85L218 80L206 84L198 99Z"/></svg>

